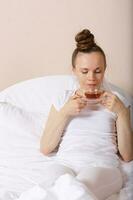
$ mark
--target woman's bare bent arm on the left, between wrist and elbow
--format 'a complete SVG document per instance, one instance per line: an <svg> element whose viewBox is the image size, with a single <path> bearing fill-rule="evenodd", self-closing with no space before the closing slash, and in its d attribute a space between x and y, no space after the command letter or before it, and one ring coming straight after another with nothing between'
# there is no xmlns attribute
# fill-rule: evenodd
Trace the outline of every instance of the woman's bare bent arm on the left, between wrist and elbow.
<svg viewBox="0 0 133 200"><path fill-rule="evenodd" d="M46 126L41 138L41 152L44 154L51 153L59 144L63 130L69 122L63 109L58 112L52 124Z"/></svg>

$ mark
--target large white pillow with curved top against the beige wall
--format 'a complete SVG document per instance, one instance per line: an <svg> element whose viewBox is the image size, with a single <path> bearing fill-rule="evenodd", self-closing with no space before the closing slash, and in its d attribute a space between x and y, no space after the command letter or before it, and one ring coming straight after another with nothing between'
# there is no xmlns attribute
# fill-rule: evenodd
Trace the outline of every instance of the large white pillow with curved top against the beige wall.
<svg viewBox="0 0 133 200"><path fill-rule="evenodd" d="M55 75L31 79L13 85L0 93L0 102L9 102L31 112L48 113L58 91L75 89L72 75Z"/></svg>

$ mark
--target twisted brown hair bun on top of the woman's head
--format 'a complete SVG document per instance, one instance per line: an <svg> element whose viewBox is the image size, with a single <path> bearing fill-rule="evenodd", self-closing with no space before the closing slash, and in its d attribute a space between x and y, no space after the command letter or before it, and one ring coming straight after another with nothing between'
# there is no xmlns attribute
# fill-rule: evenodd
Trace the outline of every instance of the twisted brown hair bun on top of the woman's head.
<svg viewBox="0 0 133 200"><path fill-rule="evenodd" d="M94 35L88 30L84 29L75 36L76 46L79 51L89 50L96 46Z"/></svg>

